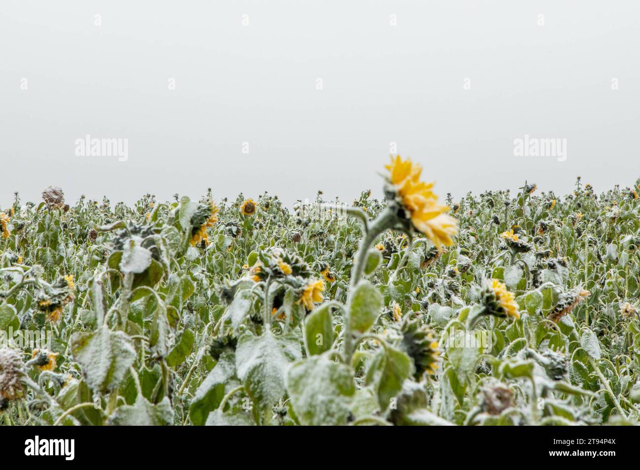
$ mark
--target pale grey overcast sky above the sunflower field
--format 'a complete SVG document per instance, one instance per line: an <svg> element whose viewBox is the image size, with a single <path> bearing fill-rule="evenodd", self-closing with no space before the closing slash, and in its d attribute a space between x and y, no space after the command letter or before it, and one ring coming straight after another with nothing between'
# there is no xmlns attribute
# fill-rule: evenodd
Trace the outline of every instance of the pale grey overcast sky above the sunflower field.
<svg viewBox="0 0 640 470"><path fill-rule="evenodd" d="M0 206L48 185L351 200L381 194L392 142L443 198L631 185L639 44L635 0L2 0ZM76 156L86 134L128 139L127 161ZM567 139L566 161L515 157L525 134Z"/></svg>

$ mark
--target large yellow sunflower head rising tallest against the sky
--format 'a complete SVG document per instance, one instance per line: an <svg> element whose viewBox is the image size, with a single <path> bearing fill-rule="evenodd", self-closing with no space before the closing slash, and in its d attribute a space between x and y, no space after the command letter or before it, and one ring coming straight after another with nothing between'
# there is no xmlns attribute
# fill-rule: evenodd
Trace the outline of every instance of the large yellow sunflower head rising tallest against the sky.
<svg viewBox="0 0 640 470"><path fill-rule="evenodd" d="M433 183L420 181L422 166L396 155L385 168L391 185L385 191L387 200L398 201L413 228L424 233L438 249L443 245L451 246L452 237L458 233L458 221L447 215L448 206L438 203L438 196L431 191Z"/></svg>

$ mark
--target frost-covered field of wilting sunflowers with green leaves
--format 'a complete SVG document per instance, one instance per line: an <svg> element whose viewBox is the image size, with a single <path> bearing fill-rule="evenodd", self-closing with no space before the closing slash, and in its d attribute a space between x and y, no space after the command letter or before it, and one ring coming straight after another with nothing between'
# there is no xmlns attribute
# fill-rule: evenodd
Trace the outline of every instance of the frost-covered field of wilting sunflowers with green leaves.
<svg viewBox="0 0 640 470"><path fill-rule="evenodd" d="M16 193L0 423L636 424L639 182L454 201L421 173L292 209Z"/></svg>

